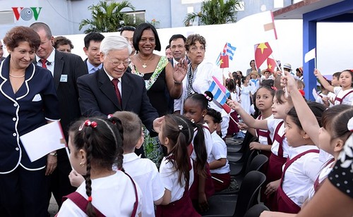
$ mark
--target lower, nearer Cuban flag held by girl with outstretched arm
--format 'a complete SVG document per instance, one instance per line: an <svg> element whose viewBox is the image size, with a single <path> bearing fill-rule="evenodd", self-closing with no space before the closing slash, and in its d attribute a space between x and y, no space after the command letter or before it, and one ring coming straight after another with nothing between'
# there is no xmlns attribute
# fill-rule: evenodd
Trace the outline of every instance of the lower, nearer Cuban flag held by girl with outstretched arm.
<svg viewBox="0 0 353 217"><path fill-rule="evenodd" d="M231 111L230 107L226 104L227 99L229 98L230 92L229 90L222 85L222 83L217 80L215 76L212 76L213 82L208 88L208 91L213 94L213 101L222 109L225 109L227 113Z"/></svg>

